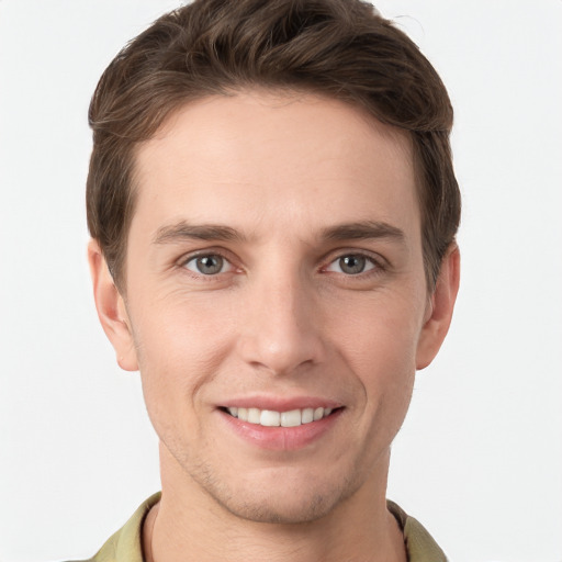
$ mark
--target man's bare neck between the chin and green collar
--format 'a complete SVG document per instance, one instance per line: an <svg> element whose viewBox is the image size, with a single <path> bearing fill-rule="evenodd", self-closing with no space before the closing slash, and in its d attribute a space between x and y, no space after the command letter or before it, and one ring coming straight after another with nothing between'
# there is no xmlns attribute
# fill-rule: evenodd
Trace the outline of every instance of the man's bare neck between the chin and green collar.
<svg viewBox="0 0 562 562"><path fill-rule="evenodd" d="M386 509L386 473L382 487L368 482L325 517L269 524L231 514L184 472L173 472L162 470L161 499L145 520L146 562L406 562L402 531Z"/></svg>

